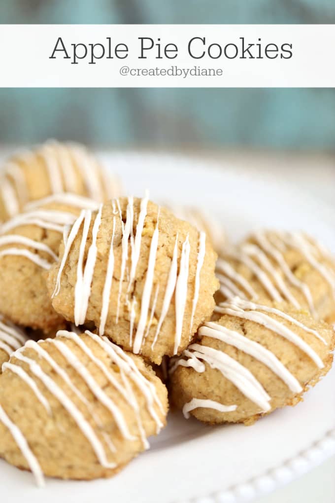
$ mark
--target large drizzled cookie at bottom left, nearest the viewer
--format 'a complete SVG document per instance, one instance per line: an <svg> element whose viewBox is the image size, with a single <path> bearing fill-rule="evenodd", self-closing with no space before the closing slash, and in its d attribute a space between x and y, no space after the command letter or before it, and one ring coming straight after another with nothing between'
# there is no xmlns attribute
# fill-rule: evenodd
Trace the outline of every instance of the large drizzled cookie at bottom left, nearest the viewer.
<svg viewBox="0 0 335 503"><path fill-rule="evenodd" d="M64 479L110 477L165 426L167 390L143 359L86 331L28 341L0 376L0 457Z"/></svg>

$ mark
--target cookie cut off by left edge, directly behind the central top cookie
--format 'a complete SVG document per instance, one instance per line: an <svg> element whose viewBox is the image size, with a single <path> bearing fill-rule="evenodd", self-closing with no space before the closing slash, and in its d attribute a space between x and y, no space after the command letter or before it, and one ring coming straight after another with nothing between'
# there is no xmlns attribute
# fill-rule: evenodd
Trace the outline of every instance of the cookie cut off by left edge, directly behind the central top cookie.
<svg viewBox="0 0 335 503"><path fill-rule="evenodd" d="M50 332L65 325L51 305L46 272L58 260L65 226L81 207L96 203L59 194L38 204L0 227L0 312L14 323Z"/></svg>

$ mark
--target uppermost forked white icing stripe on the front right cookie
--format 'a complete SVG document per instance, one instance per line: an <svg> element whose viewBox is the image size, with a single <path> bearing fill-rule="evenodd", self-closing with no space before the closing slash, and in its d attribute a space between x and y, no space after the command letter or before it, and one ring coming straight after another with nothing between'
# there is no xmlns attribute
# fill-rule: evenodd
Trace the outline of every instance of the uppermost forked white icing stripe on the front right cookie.
<svg viewBox="0 0 335 503"><path fill-rule="evenodd" d="M305 331L310 332L310 329L308 329L308 327L300 324L299 322L297 322L297 320L294 320L294 318L288 317L288 315L282 313L278 309L268 306L259 306L258 304L254 304L253 302L244 301L236 297L230 302L222 302L215 308L215 311L221 314L230 314L238 318L248 319L265 326L269 330L277 333L279 336L284 337L295 346L297 346L301 351L308 355L311 360L313 360L318 368L322 369L324 367L323 362L318 354L301 337L299 337L283 323L280 323L278 320L272 318L264 312L261 312L266 311L276 314L284 319L287 319L288 321L291 321L297 326L300 326L300 328L303 328ZM320 339L319 336L318 339Z"/></svg>

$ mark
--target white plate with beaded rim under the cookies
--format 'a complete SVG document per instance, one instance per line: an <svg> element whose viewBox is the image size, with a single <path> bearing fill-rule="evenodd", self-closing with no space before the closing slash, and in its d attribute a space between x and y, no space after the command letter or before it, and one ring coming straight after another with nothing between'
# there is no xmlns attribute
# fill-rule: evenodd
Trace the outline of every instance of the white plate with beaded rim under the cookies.
<svg viewBox="0 0 335 503"><path fill-rule="evenodd" d="M199 205L222 220L233 239L256 227L304 229L335 249L333 216L322 201L278 180L238 174L229 166L156 154L113 154L128 193ZM335 369L303 402L278 410L252 427L208 427L180 413L151 439L151 449L109 480L47 480L0 462L2 501L34 503L233 503L252 499L335 452Z"/></svg>

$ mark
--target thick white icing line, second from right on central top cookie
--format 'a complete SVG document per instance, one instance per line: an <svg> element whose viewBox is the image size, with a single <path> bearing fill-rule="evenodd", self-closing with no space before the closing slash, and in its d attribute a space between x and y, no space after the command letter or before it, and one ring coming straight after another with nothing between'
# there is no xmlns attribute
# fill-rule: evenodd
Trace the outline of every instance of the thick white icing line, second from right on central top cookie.
<svg viewBox="0 0 335 503"><path fill-rule="evenodd" d="M176 305L176 334L174 342L174 354L178 353L183 329L184 311L187 299L188 267L189 267L190 244L188 234L181 248L179 275L176 282L175 305Z"/></svg>

